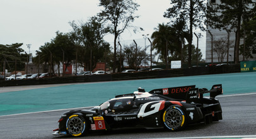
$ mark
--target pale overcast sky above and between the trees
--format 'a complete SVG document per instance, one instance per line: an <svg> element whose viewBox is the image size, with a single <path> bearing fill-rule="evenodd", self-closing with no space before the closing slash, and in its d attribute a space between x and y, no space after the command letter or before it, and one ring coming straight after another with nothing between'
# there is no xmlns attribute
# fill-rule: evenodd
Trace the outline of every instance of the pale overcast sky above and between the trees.
<svg viewBox="0 0 256 139"><path fill-rule="evenodd" d="M136 18L132 23L144 31L133 33L126 30L120 35L122 45L130 45L133 40L138 46L149 45L143 35L151 36L158 24L168 23L170 19L164 18L166 9L170 8L170 0L134 0L139 4ZM0 44L11 45L23 43L21 48L25 52L33 53L46 42L50 42L56 31L68 33L72 30L70 21L86 22L91 16L100 13L98 0L1 0L0 1ZM196 32L197 33L197 32ZM199 40L199 48L205 58L206 40ZM113 35L104 38L113 46ZM197 46L194 37L194 45ZM27 47L30 45L30 49Z"/></svg>

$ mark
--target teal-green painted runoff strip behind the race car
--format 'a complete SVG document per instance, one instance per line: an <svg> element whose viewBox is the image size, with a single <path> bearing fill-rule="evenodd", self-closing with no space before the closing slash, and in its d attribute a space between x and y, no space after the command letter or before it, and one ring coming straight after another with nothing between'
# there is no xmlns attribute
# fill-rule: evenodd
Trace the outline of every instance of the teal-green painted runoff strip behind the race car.
<svg viewBox="0 0 256 139"><path fill-rule="evenodd" d="M119 94L153 89L196 85L211 89L223 84L224 95L256 92L256 72L197 75L132 81L90 82L67 86L0 93L0 116L50 111L54 109L98 106Z"/></svg>

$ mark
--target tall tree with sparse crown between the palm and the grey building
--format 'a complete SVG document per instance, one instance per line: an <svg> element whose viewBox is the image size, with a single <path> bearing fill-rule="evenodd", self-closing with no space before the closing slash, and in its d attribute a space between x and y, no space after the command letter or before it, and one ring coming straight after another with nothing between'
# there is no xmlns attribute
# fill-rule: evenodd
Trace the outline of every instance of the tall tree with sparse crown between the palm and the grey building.
<svg viewBox="0 0 256 139"><path fill-rule="evenodd" d="M172 8L167 9L164 14L165 18L170 18L171 23L179 19L185 19L189 24L189 55L188 65L191 67L191 54L192 54L192 38L193 38L193 27L204 28L204 18L206 14L206 4L203 0L171 0Z"/></svg>

